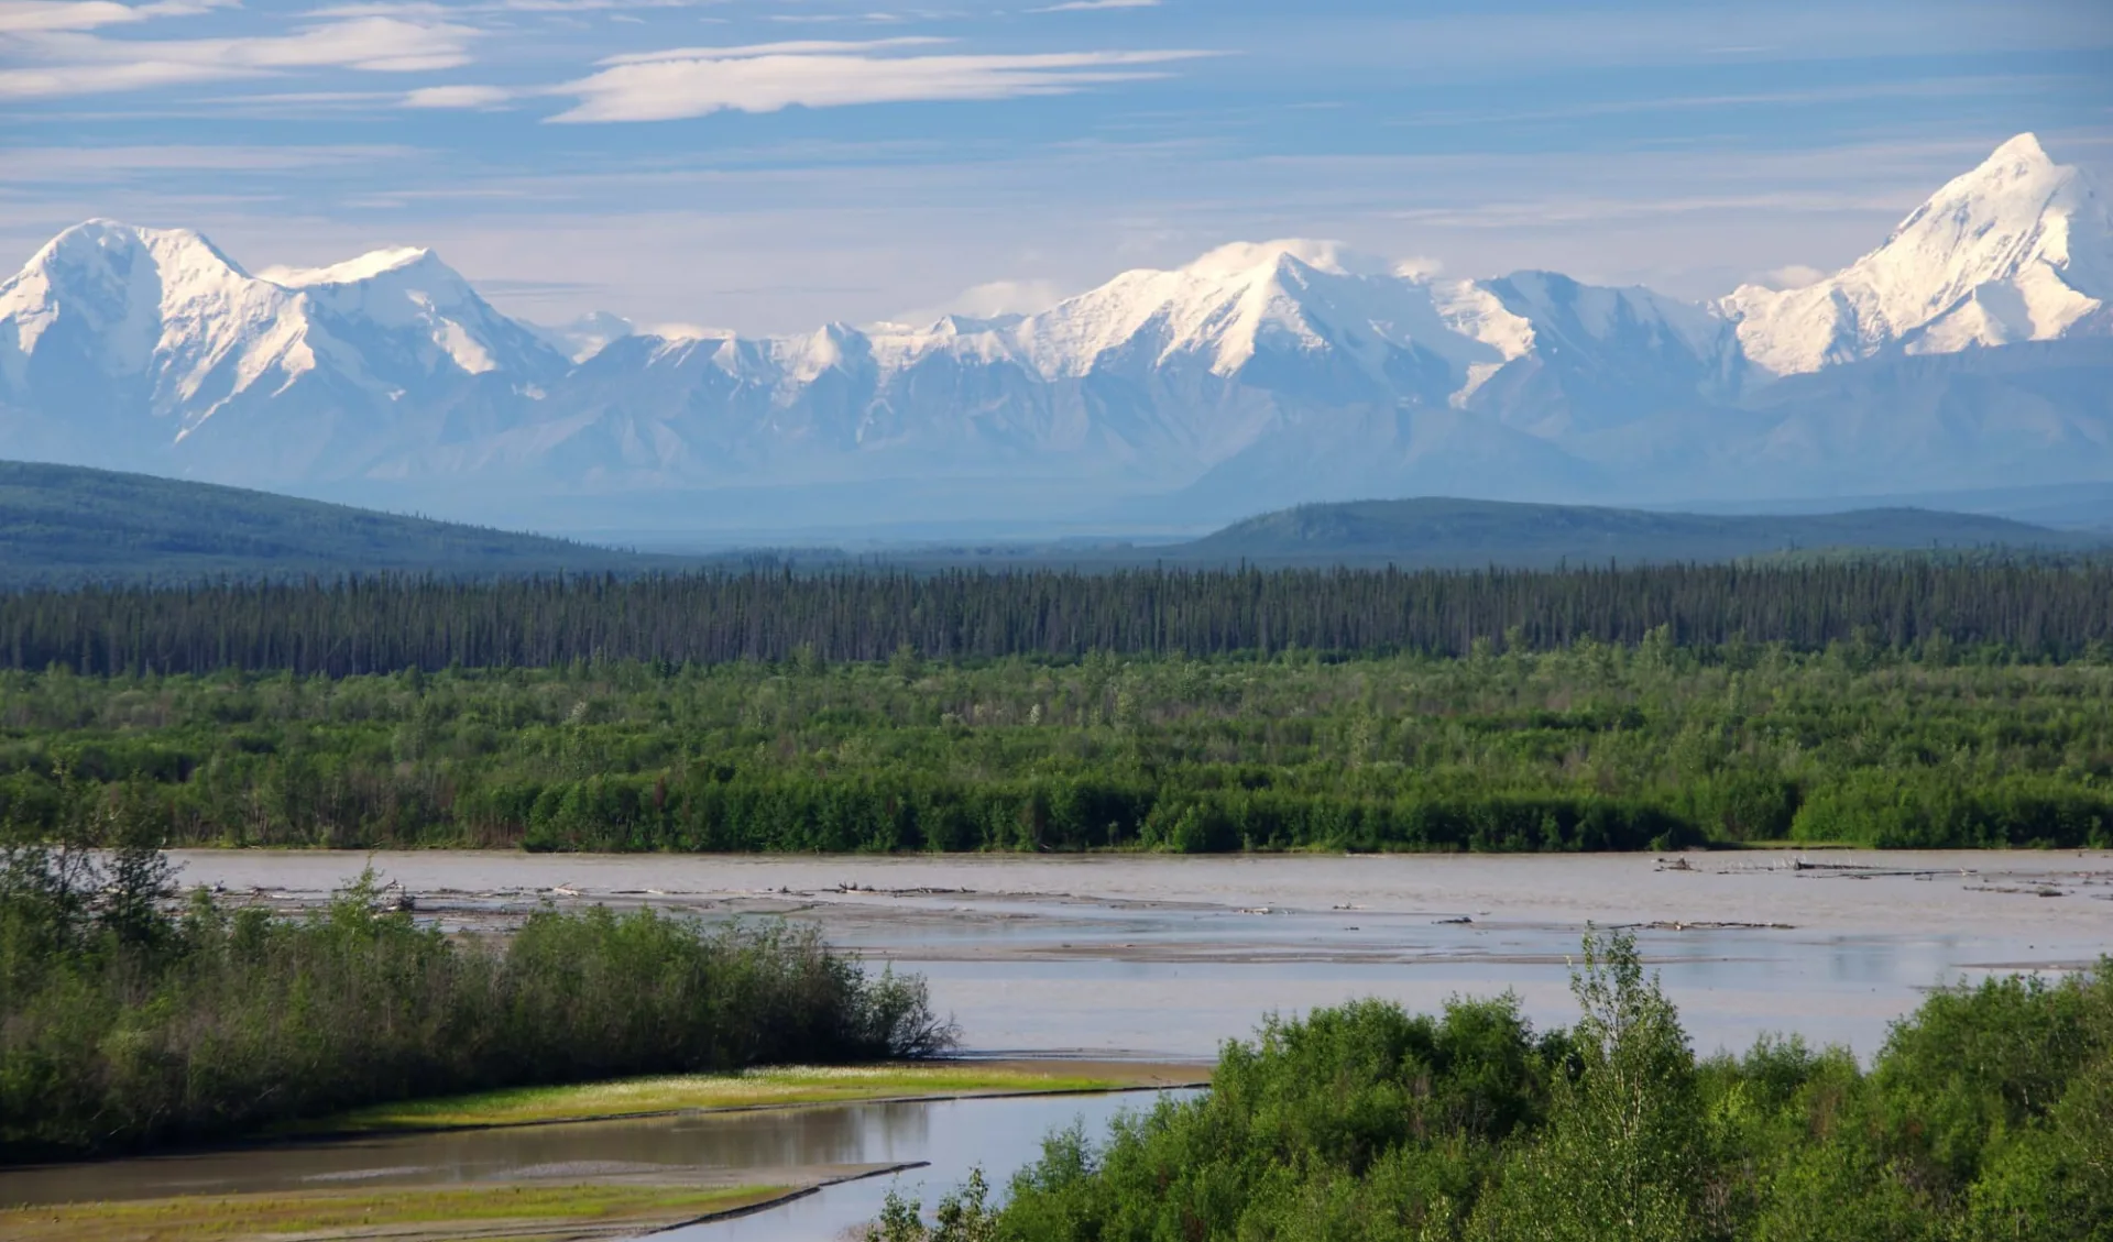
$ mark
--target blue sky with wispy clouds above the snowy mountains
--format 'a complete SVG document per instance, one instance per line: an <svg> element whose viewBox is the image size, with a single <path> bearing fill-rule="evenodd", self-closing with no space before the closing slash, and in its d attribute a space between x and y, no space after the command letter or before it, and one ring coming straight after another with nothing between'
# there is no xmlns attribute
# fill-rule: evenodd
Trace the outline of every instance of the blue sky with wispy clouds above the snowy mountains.
<svg viewBox="0 0 2113 1242"><path fill-rule="evenodd" d="M433 245L503 308L748 332L1031 306L1234 239L1712 296L2035 131L2102 0L0 0L0 249Z"/></svg>

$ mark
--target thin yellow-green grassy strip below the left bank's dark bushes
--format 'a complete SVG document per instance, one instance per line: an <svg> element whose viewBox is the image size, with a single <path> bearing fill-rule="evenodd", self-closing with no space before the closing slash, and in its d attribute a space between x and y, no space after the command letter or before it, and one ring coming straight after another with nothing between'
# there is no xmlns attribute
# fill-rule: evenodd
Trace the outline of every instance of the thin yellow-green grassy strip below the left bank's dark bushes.
<svg viewBox="0 0 2113 1242"><path fill-rule="evenodd" d="M1122 1062L1092 1062L1076 1069L1061 1062L778 1067L746 1073L628 1077L577 1086L511 1088L467 1096L404 1100L321 1117L287 1132L372 1134L391 1130L467 1130L706 1109L837 1105L919 1096L1103 1092L1139 1086L1175 1086L1207 1077L1209 1073L1200 1069L1130 1067Z"/></svg>

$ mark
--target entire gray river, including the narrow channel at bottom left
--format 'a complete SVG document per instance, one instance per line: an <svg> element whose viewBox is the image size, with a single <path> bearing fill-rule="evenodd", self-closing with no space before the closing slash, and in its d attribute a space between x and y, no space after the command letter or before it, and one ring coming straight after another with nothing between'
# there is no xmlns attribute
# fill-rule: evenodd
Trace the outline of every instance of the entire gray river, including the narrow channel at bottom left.
<svg viewBox="0 0 2113 1242"><path fill-rule="evenodd" d="M1699 1052L1762 1033L1870 1056L1929 986L2075 970L2113 951L2113 855L1688 853L1295 858L714 858L520 853L180 853L186 883L300 908L370 864L448 927L503 927L541 902L809 919L915 970L970 1054L1207 1060L1268 1012L1376 995L1431 1010L1513 991L1568 1022L1587 925L1631 927ZM1052 1126L1099 1128L1149 1096L864 1105L759 1117L558 1126L535 1136L391 1138L0 1174L0 1202L125 1196L188 1179L247 1189L328 1179L463 1181L522 1170L687 1164L767 1172L930 1162L928 1200L974 1162L1002 1183ZM190 1162L190 1164L186 1164ZM218 1164L216 1164L218 1162ZM321 1162L321 1164L317 1164ZM27 1179L40 1177L42 1183ZM72 1181L53 1181L72 1179ZM839 1238L887 1179L680 1231ZM224 1189L232 1189L226 1185ZM169 1189L158 1189L169 1193Z"/></svg>

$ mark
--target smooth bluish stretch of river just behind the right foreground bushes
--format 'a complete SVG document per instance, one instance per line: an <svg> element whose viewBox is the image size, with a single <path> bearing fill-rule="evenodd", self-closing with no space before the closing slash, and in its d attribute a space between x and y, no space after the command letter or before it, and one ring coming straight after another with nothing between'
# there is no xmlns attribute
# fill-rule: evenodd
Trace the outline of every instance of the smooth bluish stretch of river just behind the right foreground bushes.
<svg viewBox="0 0 2113 1242"><path fill-rule="evenodd" d="M1259 921L1259 919L1255 919ZM1308 955L1168 953L1139 961L1099 955L1086 936L1076 959L896 957L930 982L932 999L970 1033L976 1052L1063 1050L1141 1058L1211 1058L1264 1014L1299 1014L1350 997L1384 997L1435 1012L1450 997L1511 991L1540 1027L1576 1018L1568 959L1576 927L1310 927L1323 917L1270 919L1276 944ZM1302 927L1308 923L1308 927ZM2109 921L2113 927L2113 921ZM1310 931L1310 934L1308 934ZM1399 934L1392 951L1369 951ZM1361 942L1352 942L1361 940ZM1779 929L1642 929L1638 942L1680 1005L1695 1050L1745 1050L1762 1033L1847 1043L1872 1056L1895 1018L1936 984L2014 970L2031 955L2090 961L2105 944L2024 936L1813 936ZM1149 934L1135 934L1149 944ZM1259 957L1259 959L1257 959ZM1990 965L1999 963L1999 965Z"/></svg>

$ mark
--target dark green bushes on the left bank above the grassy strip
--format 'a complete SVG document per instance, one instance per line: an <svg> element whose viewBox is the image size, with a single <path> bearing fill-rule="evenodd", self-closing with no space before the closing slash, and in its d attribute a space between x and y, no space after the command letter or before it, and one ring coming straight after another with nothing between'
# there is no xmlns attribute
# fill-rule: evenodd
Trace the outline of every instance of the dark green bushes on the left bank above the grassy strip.
<svg viewBox="0 0 2113 1242"><path fill-rule="evenodd" d="M368 874L275 919L194 893L152 849L0 858L0 1162L251 1132L467 1090L763 1062L923 1056L917 978L868 978L811 929L651 910L537 912L450 938Z"/></svg>

